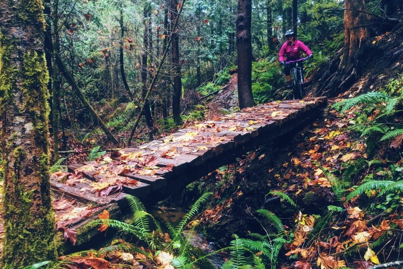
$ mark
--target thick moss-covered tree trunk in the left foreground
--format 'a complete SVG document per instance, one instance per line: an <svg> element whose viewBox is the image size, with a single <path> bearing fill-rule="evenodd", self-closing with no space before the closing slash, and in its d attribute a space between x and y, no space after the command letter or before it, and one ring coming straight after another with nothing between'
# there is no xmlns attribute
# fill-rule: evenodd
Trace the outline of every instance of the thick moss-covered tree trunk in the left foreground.
<svg viewBox="0 0 403 269"><path fill-rule="evenodd" d="M41 0L0 1L3 268L55 259Z"/></svg>

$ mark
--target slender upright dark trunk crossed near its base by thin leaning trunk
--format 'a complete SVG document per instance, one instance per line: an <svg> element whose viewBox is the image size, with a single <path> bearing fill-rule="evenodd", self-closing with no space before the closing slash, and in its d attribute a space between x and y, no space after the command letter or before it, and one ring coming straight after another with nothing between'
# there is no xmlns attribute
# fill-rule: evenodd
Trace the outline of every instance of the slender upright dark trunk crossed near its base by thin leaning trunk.
<svg viewBox="0 0 403 269"><path fill-rule="evenodd" d="M150 7L147 4L144 7L144 38L143 38L143 47L144 47L144 53L142 55L142 96L143 99L147 95L147 74L149 72L148 70L148 65L147 65L147 59L148 59L148 49L149 49L149 42L148 42L148 24L150 23ZM148 100L144 103L144 117L146 118L146 124L150 131L153 130L153 116L151 115L151 110L150 110L150 105Z"/></svg>

